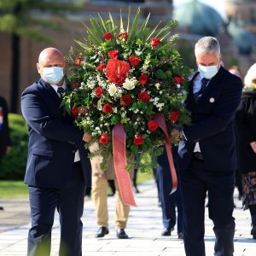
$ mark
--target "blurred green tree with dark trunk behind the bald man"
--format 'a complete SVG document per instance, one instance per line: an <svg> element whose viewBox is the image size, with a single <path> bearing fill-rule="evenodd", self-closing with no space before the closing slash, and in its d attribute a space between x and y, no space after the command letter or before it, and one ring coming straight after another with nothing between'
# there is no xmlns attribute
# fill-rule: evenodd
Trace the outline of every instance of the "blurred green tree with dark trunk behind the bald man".
<svg viewBox="0 0 256 256"><path fill-rule="evenodd" d="M0 32L9 32L12 39L11 55L11 102L10 111L17 113L20 87L20 38L28 37L49 41L42 28L60 29L61 20L45 20L42 15L58 16L63 19L65 12L75 11L83 1L61 3L57 0L0 0Z"/></svg>

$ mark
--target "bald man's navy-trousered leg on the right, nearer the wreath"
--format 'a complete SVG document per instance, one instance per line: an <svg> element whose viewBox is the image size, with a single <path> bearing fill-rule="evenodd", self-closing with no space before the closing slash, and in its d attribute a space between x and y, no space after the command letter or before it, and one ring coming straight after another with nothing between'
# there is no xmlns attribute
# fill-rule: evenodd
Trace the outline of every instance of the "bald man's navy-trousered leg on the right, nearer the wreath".
<svg viewBox="0 0 256 256"><path fill-rule="evenodd" d="M85 183L81 166L73 169L79 173L73 177L66 186L61 189L61 197L58 204L61 223L61 256L82 256L82 232L81 218L84 212Z"/></svg>

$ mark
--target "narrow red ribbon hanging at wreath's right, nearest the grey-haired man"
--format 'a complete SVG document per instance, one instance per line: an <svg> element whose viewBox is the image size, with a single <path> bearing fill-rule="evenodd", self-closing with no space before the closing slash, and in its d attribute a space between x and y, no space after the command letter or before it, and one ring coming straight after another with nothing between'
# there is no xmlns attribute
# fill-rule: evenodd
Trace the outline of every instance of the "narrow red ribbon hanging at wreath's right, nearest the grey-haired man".
<svg viewBox="0 0 256 256"><path fill-rule="evenodd" d="M167 158L169 161L169 166L170 166L171 175L172 175L172 192L171 192L172 194L177 190L177 174L176 174L175 166L173 163L172 149L171 149L169 134L166 126L166 119L163 113L155 113L153 116L153 119L157 121L157 123L160 125L160 128L165 132L165 135L166 135L166 153L167 153Z"/></svg>

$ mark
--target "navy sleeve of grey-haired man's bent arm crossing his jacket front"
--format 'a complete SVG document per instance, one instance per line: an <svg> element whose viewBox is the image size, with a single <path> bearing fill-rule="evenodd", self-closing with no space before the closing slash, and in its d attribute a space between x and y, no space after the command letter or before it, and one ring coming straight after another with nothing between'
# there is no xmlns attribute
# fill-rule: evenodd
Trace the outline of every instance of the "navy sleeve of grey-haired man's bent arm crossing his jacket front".
<svg viewBox="0 0 256 256"><path fill-rule="evenodd" d="M224 131L235 116L241 100L241 89L242 84L240 82L225 86L214 113L207 119L184 128L183 131L188 141L197 142Z"/></svg>

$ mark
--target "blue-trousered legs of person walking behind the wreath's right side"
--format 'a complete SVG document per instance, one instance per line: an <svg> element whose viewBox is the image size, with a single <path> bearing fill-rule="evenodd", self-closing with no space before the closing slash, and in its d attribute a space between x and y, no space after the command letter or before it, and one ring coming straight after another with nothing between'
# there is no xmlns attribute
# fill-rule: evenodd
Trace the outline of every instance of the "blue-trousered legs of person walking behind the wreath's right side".
<svg viewBox="0 0 256 256"><path fill-rule="evenodd" d="M177 146L172 145L172 155L174 165L177 160ZM160 207L162 208L162 218L164 224L164 230L162 236L171 236L172 230L176 224L177 219L177 238L183 239L183 206L180 192L180 185L178 182L177 191L171 195L172 191L172 176L169 166L169 161L166 154L166 148L164 148L163 154L157 158L157 182L159 186L160 195ZM178 177L178 172L177 172ZM177 218L176 218L177 207Z"/></svg>

